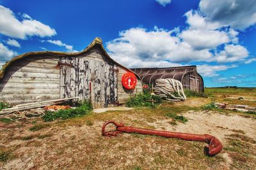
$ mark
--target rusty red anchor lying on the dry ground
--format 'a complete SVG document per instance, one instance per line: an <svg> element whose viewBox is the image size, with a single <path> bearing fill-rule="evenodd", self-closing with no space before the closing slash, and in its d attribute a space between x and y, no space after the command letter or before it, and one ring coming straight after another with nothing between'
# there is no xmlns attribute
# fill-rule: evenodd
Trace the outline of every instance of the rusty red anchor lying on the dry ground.
<svg viewBox="0 0 256 170"><path fill-rule="evenodd" d="M105 128L108 124L114 124L116 126L116 131L106 132ZM186 141L200 141L209 144L206 147L205 152L207 155L214 156L221 152L222 144L219 139L211 136L210 134L187 134L187 133L180 133L180 132L170 132L170 131L157 131L152 129L141 129L131 126L125 126L123 123L118 124L113 120L109 120L105 122L102 126L102 135L103 136L116 136L122 132L126 133L138 133L138 134L149 134L149 135L156 135L156 136L163 136L165 138L178 138L183 139Z"/></svg>

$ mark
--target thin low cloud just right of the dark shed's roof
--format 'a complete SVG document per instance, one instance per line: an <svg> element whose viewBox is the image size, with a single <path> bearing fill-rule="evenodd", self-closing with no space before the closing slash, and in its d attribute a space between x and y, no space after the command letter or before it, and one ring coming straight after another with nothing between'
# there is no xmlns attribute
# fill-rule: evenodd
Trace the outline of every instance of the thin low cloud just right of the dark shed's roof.
<svg viewBox="0 0 256 170"><path fill-rule="evenodd" d="M237 67L236 65L231 65L231 66L225 66L225 65L220 65L220 66L210 66L207 64L203 65L198 65L197 66L197 71L198 73L202 74L203 76L207 77L213 77L213 76L219 76L218 71L225 71L230 68Z"/></svg>

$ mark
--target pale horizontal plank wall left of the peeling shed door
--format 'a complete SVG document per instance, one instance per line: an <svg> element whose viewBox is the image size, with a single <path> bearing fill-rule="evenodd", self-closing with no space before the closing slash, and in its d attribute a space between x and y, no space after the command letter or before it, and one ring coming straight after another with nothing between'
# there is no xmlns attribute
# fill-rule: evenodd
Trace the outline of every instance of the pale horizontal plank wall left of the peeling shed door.
<svg viewBox="0 0 256 170"><path fill-rule="evenodd" d="M31 103L60 98L60 57L31 56L17 60L0 80L0 101Z"/></svg>

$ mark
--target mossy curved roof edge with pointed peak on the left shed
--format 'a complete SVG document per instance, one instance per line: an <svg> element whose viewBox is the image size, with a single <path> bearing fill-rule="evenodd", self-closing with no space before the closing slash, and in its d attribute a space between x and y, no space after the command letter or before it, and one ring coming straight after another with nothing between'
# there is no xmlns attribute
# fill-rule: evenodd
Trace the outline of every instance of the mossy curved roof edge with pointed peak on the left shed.
<svg viewBox="0 0 256 170"><path fill-rule="evenodd" d="M111 59L111 57L108 55L108 53L106 52L104 46L102 45L102 40L97 37L95 39L93 39L92 43L90 43L90 45L88 45L83 51L81 52L52 52L52 51L44 51L44 52L28 52L28 53L23 53L21 55L17 55L16 57L13 57L11 60L9 60L8 62L6 62L3 67L0 70L0 79L3 78L4 73L6 71L6 69L16 60L20 60L23 59L25 57L31 57L33 55L43 55L43 54L47 54L47 55L56 55L56 57L73 57L75 55L79 55L81 53L84 52L88 52L90 49L93 48L93 46L95 45L99 45L102 52L104 52L104 54L106 55L106 57L108 57L110 60L112 60L115 64L123 67L124 69L127 69L128 71L131 71L131 69L128 69L127 67L122 66L121 64L119 64L118 62L116 62L115 60ZM133 73L133 71L131 71ZM134 73L135 74L135 73ZM136 76L139 78L139 76L136 74ZM140 78L139 78L140 79Z"/></svg>

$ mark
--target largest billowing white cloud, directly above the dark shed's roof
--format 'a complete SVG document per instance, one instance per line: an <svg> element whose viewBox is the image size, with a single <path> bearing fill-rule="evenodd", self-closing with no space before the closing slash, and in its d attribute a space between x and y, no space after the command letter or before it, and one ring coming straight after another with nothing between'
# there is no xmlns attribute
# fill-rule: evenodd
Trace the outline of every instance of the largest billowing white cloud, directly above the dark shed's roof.
<svg viewBox="0 0 256 170"><path fill-rule="evenodd" d="M106 45L112 57L123 64L129 60L127 62L129 65L138 60L142 61L140 62L142 64L148 60L189 62L212 57L208 50L195 50L186 41L172 36L172 32L157 28L154 31L132 28L120 32L120 38L109 41Z"/></svg>

